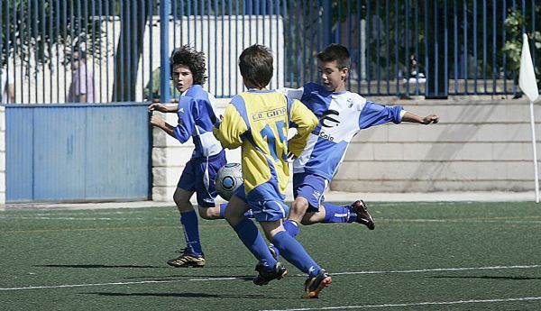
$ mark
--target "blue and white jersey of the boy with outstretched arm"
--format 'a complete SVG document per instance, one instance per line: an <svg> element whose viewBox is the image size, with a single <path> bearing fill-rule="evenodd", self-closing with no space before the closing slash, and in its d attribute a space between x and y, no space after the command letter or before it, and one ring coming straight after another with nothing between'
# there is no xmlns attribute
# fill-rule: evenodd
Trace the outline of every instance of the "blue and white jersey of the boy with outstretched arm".
<svg viewBox="0 0 541 311"><path fill-rule="evenodd" d="M305 150L293 163L293 173L307 172L327 180L335 177L359 131L381 123L400 123L406 114L402 106L374 104L356 93L329 92L315 83L280 91L289 98L299 99L319 119Z"/></svg>

